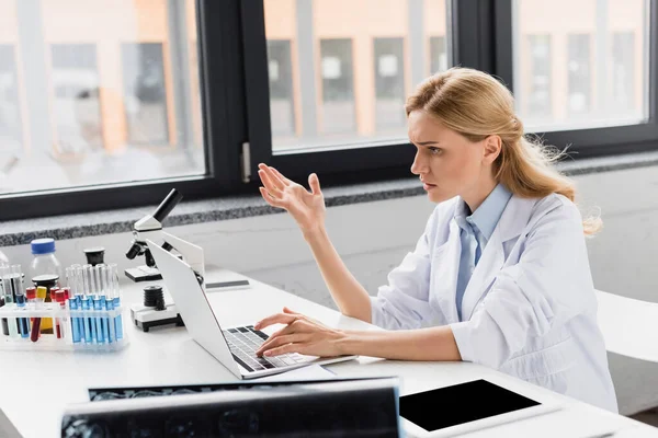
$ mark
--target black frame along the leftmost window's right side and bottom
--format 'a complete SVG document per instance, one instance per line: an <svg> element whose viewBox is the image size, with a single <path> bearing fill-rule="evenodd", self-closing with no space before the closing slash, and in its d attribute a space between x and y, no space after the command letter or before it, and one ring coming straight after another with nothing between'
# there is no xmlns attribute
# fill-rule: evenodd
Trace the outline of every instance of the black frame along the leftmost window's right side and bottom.
<svg viewBox="0 0 658 438"><path fill-rule="evenodd" d="M239 4L196 0L195 7L205 175L2 194L0 221L157 205L172 187L186 199L245 189L239 169L247 137Z"/></svg>

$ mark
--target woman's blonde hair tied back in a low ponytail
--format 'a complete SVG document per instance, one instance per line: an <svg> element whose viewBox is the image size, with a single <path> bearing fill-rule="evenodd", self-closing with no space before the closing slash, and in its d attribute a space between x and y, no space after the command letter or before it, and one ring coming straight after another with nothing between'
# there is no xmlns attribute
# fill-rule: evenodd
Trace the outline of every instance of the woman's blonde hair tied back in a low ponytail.
<svg viewBox="0 0 658 438"><path fill-rule="evenodd" d="M491 76L453 67L423 81L407 99L405 110L407 116L424 111L474 142L499 136L502 147L494 163L495 177L512 194L543 198L557 193L575 201L574 182L554 166L563 152L524 134L514 115L512 93ZM601 229L602 221L588 217L582 227L591 235Z"/></svg>

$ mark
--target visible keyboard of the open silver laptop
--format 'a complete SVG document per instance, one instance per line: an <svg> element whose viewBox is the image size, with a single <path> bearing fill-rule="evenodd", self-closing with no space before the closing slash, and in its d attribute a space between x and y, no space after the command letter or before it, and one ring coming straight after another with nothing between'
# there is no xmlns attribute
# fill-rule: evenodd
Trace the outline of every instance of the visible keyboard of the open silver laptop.
<svg viewBox="0 0 658 438"><path fill-rule="evenodd" d="M228 348L230 348L230 353L232 353L234 359L249 371L290 367L291 365L308 360L297 353L268 358L264 356L256 356L256 351L258 351L269 336L259 330L254 330L253 325L229 328L223 331L223 333L228 343Z"/></svg>

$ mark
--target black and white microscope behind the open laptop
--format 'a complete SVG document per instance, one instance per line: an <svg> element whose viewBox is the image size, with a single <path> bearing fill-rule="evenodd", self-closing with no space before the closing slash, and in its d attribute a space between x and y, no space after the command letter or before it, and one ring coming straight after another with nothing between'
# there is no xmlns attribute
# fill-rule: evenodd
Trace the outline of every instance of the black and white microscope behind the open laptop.
<svg viewBox="0 0 658 438"><path fill-rule="evenodd" d="M134 239L131 249L126 253L126 257L134 260L137 256L144 255L146 265L125 269L126 277L134 281L162 279L160 272L156 267L156 261L146 243L148 239L164 250L174 252L177 256L188 263L192 270L194 270L198 284L205 290L203 249L162 231L162 221L182 198L183 196L173 188L158 206L152 216L147 215L135 222L133 226ZM175 309L175 304L164 301L162 287L157 285L147 286L144 289L144 304L132 306L131 318L134 324L144 332L148 332L150 327L158 325L184 325L181 315Z"/></svg>

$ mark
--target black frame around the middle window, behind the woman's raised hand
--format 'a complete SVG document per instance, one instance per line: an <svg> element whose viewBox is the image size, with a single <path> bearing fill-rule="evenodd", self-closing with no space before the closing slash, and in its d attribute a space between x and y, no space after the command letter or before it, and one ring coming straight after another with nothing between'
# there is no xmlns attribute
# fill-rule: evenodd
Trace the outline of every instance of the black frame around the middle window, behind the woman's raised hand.
<svg viewBox="0 0 658 438"><path fill-rule="evenodd" d="M415 1L415 0L410 0ZM460 64L491 71L492 57L483 53L491 47L490 0L446 0L449 65ZM247 117L249 120L250 175L258 184L258 164L268 163L292 178L305 182L311 172L320 175L322 185L348 182L379 181L411 176L409 168L416 148L407 139L371 141L321 148L296 148L272 151L270 95L266 68L264 2L241 2L243 23ZM473 23L483 28L473 28ZM458 33L458 34L457 34ZM477 41L477 46L472 45ZM451 62L451 60L456 62ZM358 173L358 174L356 174Z"/></svg>

